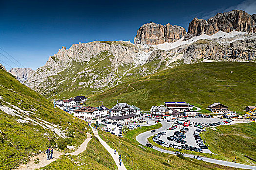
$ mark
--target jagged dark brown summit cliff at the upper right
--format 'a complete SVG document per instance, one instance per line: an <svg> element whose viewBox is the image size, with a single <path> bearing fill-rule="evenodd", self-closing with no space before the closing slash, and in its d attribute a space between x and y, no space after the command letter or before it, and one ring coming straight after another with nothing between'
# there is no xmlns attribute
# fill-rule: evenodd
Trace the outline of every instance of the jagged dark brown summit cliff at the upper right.
<svg viewBox="0 0 256 170"><path fill-rule="evenodd" d="M213 35L218 31L231 32L233 30L256 33L255 15L251 16L242 10L233 10L224 13L218 13L210 19L203 20L194 18L188 28L184 40L201 34Z"/></svg>

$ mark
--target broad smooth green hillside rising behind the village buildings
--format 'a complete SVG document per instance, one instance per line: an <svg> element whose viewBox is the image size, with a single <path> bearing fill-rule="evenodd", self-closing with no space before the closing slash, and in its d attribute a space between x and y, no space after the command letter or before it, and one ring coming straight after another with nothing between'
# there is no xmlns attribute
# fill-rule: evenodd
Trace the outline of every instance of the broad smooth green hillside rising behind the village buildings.
<svg viewBox="0 0 256 170"><path fill-rule="evenodd" d="M88 104L112 107L119 102L149 110L164 102L189 102L206 108L221 102L231 110L256 103L256 63L212 62L182 65L92 95Z"/></svg>

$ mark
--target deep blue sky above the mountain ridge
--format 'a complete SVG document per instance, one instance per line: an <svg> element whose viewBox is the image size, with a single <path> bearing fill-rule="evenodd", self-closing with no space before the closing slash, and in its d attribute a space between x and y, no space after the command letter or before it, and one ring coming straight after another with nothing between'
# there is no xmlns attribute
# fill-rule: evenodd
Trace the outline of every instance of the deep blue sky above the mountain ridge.
<svg viewBox="0 0 256 170"><path fill-rule="evenodd" d="M256 0L0 0L0 48L19 63L11 67L37 69L59 48L95 40L130 40L150 21L171 23L186 30L194 18L243 9L256 13ZM9 66L8 66L9 65ZM11 67L10 67L11 66Z"/></svg>

